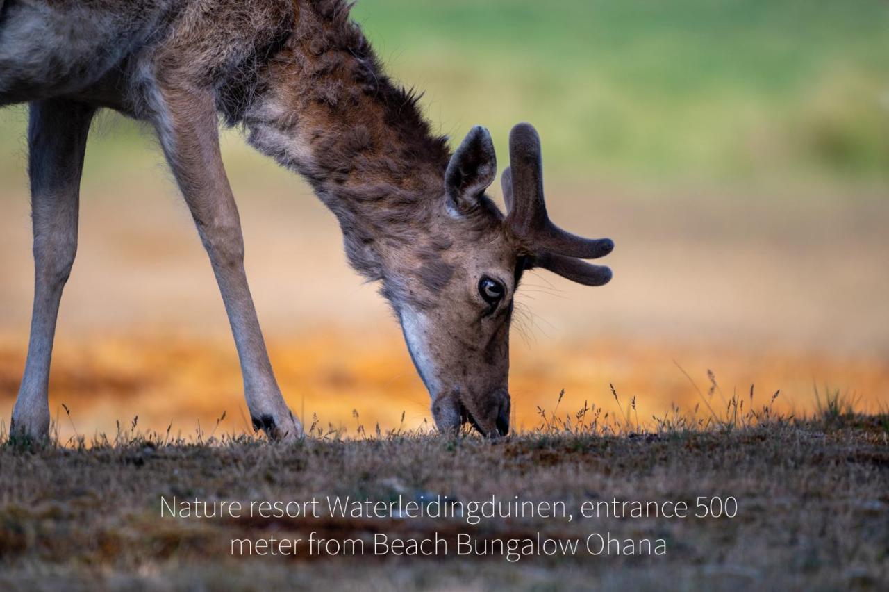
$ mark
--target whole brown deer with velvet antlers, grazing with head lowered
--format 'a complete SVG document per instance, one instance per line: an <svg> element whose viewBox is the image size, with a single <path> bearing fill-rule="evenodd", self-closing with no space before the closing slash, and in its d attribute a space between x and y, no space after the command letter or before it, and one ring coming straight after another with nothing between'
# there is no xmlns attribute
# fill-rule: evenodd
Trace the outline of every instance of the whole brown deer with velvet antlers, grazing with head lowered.
<svg viewBox="0 0 889 592"><path fill-rule="evenodd" d="M12 433L43 437L62 288L77 246L86 136L98 108L149 122L209 253L253 427L301 434L268 360L247 278L218 117L300 173L340 221L348 260L379 281L432 398L437 427L509 430L509 322L525 269L605 284L582 261L613 249L549 221L541 147L509 139L508 213L485 196L493 142L451 154L393 84L342 0L0 0L0 105L29 103L36 282Z"/></svg>

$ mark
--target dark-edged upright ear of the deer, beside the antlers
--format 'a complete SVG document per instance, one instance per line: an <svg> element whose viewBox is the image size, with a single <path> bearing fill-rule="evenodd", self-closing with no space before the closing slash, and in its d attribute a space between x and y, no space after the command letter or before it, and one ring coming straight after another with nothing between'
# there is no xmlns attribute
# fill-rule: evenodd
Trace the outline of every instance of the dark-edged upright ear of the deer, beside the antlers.
<svg viewBox="0 0 889 592"><path fill-rule="evenodd" d="M457 212L469 212L497 176L497 156L491 133L477 125L453 153L445 171L448 203Z"/></svg>

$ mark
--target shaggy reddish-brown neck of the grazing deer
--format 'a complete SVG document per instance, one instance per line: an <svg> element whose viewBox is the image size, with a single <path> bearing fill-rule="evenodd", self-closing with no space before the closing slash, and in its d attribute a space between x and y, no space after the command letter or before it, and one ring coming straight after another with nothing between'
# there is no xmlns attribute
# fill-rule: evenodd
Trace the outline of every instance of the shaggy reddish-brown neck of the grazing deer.
<svg viewBox="0 0 889 592"><path fill-rule="evenodd" d="M244 115L248 140L308 180L340 220L350 262L380 279L380 251L416 240L439 209L445 138L344 15L303 13L261 88Z"/></svg>

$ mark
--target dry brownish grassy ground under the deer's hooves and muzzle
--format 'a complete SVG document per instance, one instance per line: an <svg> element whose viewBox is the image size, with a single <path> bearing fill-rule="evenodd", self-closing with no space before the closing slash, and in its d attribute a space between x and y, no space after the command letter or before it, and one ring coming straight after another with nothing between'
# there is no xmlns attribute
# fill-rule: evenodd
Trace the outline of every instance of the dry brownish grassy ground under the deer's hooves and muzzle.
<svg viewBox="0 0 889 592"><path fill-rule="evenodd" d="M571 430L573 429L573 431ZM127 428L92 448L0 447L0 585L5 589L749 589L879 588L889 583L889 417L825 412L755 427L603 433L556 427L487 442L316 433L297 444L243 437L174 443ZM208 437L204 435L204 440ZM160 499L737 500L696 519L173 518ZM728 513L729 502L725 504ZM413 559L230 556L232 539L664 540L665 556Z"/></svg>

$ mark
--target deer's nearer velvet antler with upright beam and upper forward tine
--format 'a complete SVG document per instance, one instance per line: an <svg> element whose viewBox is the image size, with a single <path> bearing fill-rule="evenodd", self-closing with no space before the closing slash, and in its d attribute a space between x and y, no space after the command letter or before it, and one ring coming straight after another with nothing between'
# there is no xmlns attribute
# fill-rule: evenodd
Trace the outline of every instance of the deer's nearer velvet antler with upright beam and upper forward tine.
<svg viewBox="0 0 889 592"><path fill-rule="evenodd" d="M517 124L509 133L509 178L511 199L507 198L507 223L517 236L522 236L541 252L566 257L595 259L613 251L610 238L583 238L558 228L549 220L543 197L543 164L541 139L531 124Z"/></svg>

